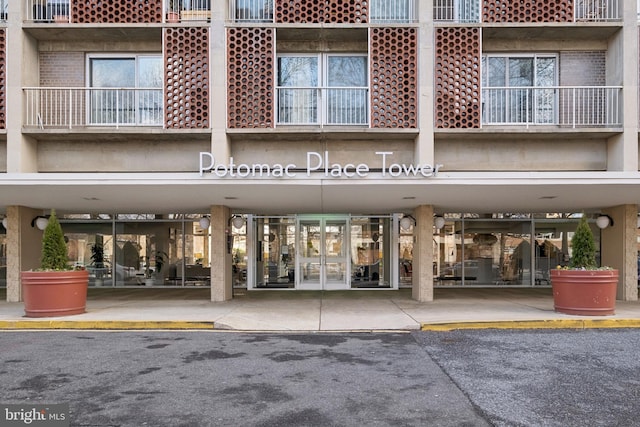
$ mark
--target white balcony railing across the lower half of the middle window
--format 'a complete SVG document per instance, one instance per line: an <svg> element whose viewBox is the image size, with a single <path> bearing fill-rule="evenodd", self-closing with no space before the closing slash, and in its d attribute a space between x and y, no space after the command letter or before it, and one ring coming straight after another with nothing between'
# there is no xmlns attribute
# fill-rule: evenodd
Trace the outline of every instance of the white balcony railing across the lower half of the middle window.
<svg viewBox="0 0 640 427"><path fill-rule="evenodd" d="M369 89L277 88L279 125L367 125Z"/></svg>

